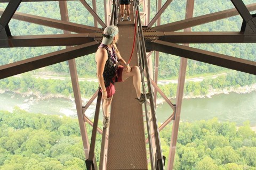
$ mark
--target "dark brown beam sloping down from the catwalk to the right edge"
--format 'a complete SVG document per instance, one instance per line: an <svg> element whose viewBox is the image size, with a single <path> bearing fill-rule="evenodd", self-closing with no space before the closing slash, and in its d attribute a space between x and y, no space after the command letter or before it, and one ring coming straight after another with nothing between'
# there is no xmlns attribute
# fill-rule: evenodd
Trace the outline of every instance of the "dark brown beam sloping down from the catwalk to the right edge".
<svg viewBox="0 0 256 170"><path fill-rule="evenodd" d="M154 43L146 43L146 49L156 50L158 52L185 57L191 60L256 75L256 62L244 60L242 58L208 52L206 50L191 48L161 40L156 40Z"/></svg>

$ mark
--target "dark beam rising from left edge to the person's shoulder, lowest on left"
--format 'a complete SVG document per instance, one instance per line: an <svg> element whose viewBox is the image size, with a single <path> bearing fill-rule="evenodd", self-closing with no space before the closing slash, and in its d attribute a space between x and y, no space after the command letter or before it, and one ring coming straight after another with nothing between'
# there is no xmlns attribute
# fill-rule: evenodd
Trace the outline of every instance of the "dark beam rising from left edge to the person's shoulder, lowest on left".
<svg viewBox="0 0 256 170"><path fill-rule="evenodd" d="M94 41L92 43L66 48L57 52L2 65L0 66L0 79L95 53L98 46L98 43Z"/></svg>

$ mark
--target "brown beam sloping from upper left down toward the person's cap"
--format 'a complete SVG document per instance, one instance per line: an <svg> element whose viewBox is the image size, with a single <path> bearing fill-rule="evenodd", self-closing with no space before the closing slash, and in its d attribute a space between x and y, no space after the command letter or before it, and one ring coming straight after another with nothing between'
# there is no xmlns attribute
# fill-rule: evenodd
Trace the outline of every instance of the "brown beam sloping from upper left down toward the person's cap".
<svg viewBox="0 0 256 170"><path fill-rule="evenodd" d="M0 15L3 14L3 11L4 11L3 9L0 9ZM60 21L60 20L45 18L42 16L20 13L20 12L15 12L15 14L13 15L13 19L40 24L47 27L61 29L61 30L77 32L77 33L89 33L89 32L95 32L100 30L100 28L90 27L83 24Z"/></svg>

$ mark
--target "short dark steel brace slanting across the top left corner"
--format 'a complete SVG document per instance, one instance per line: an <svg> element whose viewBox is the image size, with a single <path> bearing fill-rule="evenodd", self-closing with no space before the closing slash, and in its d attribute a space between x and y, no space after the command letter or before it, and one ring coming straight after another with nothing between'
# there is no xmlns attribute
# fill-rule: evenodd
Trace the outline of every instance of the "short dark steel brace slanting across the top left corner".
<svg viewBox="0 0 256 170"><path fill-rule="evenodd" d="M19 7L20 3L21 0L11 1L6 6L0 18L0 38L6 38L7 36L11 36L11 31L9 29L8 23L12 19L12 16Z"/></svg>

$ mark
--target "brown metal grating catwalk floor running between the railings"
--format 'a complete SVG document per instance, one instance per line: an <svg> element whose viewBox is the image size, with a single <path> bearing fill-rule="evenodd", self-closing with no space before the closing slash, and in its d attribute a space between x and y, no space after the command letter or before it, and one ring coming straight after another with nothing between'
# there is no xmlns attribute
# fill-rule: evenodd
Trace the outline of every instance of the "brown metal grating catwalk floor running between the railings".
<svg viewBox="0 0 256 170"><path fill-rule="evenodd" d="M134 36L132 7L131 4L132 21L127 21L125 14L125 20L118 22L117 47L126 62L131 55ZM138 65L136 51L135 48L130 65ZM132 78L116 83L115 87L116 94L113 97L110 114L107 169L148 169L142 106L134 99L136 92Z"/></svg>

